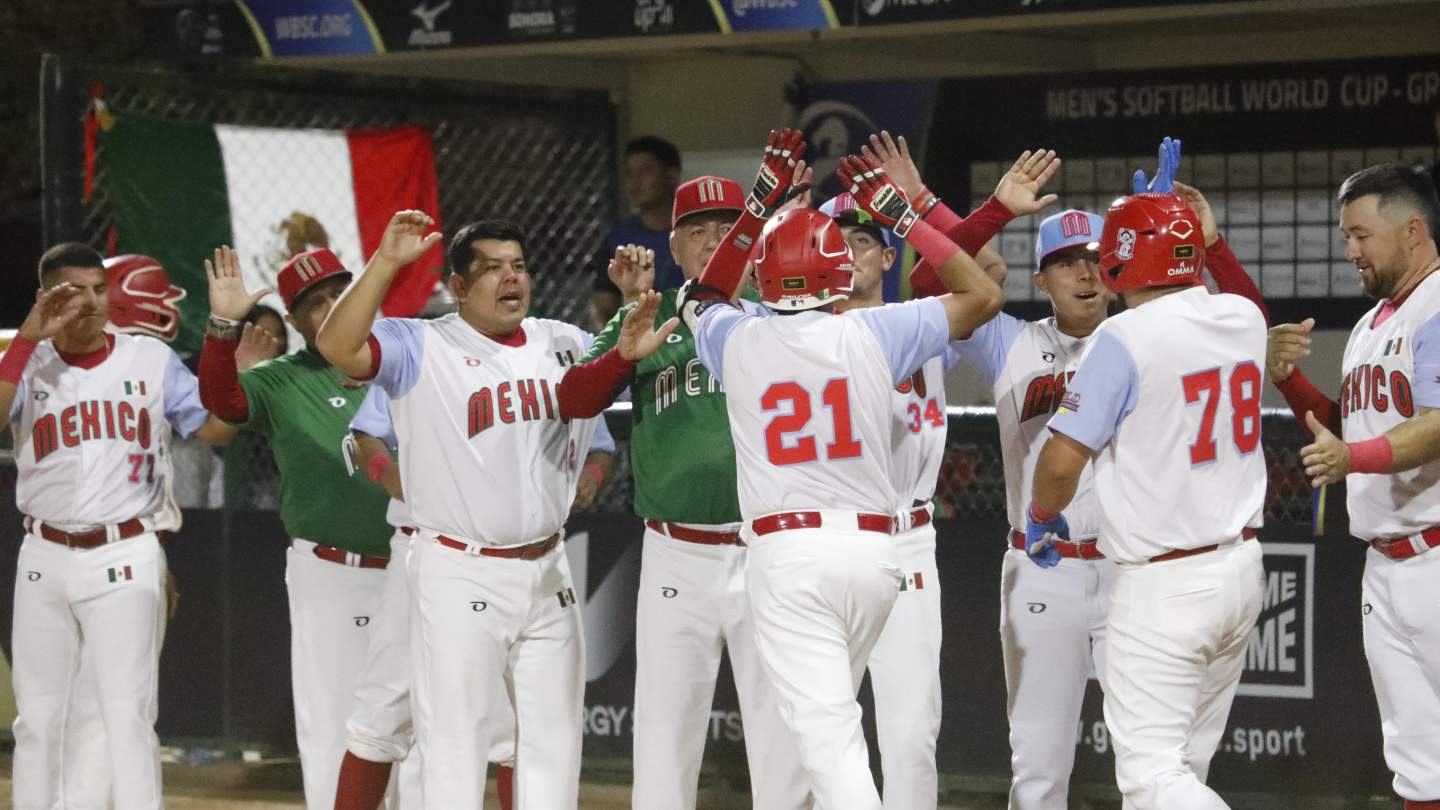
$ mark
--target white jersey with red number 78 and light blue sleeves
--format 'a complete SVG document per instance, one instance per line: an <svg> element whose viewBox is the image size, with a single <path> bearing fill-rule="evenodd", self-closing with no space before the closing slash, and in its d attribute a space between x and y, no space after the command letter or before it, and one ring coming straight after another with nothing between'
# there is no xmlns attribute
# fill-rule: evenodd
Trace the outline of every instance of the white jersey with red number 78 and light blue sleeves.
<svg viewBox="0 0 1440 810"><path fill-rule="evenodd" d="M1110 317L1050 428L1094 451L1100 552L1145 562L1259 528L1266 323L1204 287Z"/></svg>

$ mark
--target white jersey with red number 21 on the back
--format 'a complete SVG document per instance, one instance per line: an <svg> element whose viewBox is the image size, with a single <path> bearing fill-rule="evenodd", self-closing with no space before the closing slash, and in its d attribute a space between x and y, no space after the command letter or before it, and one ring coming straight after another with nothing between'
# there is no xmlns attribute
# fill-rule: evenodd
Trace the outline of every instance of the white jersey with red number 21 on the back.
<svg viewBox="0 0 1440 810"><path fill-rule="evenodd" d="M700 320L700 362L726 386L740 515L910 506L891 454L894 388L949 340L935 298L756 317L714 306Z"/></svg>

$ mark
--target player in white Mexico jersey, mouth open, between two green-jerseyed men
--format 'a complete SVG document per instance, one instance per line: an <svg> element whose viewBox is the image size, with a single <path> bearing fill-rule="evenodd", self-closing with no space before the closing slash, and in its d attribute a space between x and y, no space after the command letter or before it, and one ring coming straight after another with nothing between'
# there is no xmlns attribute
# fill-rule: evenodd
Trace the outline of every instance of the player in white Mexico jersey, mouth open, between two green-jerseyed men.
<svg viewBox="0 0 1440 810"><path fill-rule="evenodd" d="M395 215L364 275L320 333L338 369L390 396L410 549L416 741L425 806L477 807L494 742L487 718L516 712L516 801L575 807L585 637L562 545L595 419L564 419L554 389L588 334L526 317L524 233L468 225L449 248L458 313L374 314L395 272L441 238L418 210ZM632 313L652 319L658 297ZM651 331L648 352L674 324Z"/></svg>

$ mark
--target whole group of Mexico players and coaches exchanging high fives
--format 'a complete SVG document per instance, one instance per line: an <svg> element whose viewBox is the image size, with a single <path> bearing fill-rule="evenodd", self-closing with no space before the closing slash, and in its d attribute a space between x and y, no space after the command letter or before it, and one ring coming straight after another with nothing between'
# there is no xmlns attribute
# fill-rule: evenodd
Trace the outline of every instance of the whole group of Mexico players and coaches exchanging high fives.
<svg viewBox="0 0 1440 810"><path fill-rule="evenodd" d="M426 212L396 213L363 272L325 248L294 255L276 287L305 347L271 359L275 339L246 320L269 290L217 248L197 373L166 344L183 293L157 262L46 251L0 357L26 516L14 807L161 807L171 434L238 431L269 438L281 476L307 807L478 809L490 762L504 807L577 807L586 656L564 523L611 476L602 412L628 398L645 523L634 807L696 806L724 651L753 807L935 809L932 497L945 376L965 363L992 388L1005 467L1011 810L1067 807L1090 673L1126 809L1228 807L1205 781L1263 600L1267 378L1313 435L1312 483L1346 481L1371 546L1385 761L1407 810L1440 810L1431 180L1388 164L1338 190L1377 304L1336 402L1296 369L1313 321L1269 324L1205 196L1175 180L1178 140L1107 212L1043 219L1030 270L1054 314L1038 321L1001 311L1005 267L985 245L1057 202L1054 151L1024 151L962 218L887 133L811 208L805 148L773 131L750 189L680 184L668 246L684 284L654 290L654 251L618 248L625 306L599 334L528 317L526 233L503 219L451 238L456 311L431 320L377 319L396 272L442 239ZM907 245L916 297L887 304Z"/></svg>

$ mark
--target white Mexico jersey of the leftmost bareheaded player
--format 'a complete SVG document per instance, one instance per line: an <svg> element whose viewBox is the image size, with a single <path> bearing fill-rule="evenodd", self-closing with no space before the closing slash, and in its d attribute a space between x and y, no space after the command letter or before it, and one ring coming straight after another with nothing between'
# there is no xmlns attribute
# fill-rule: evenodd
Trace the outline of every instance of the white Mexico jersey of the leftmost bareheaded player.
<svg viewBox="0 0 1440 810"><path fill-rule="evenodd" d="M109 353L71 366L49 340L36 346L10 406L16 506L60 529L141 517L180 528L170 496L170 431L194 434L209 419L200 388L154 337L107 334Z"/></svg>

